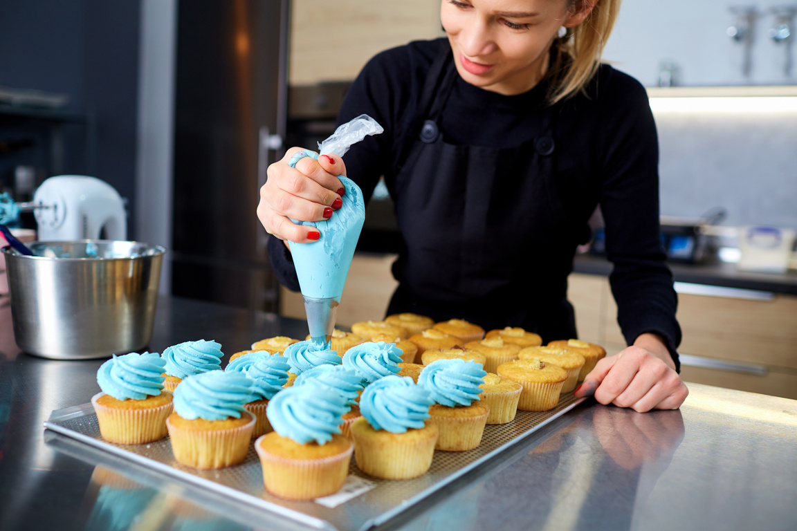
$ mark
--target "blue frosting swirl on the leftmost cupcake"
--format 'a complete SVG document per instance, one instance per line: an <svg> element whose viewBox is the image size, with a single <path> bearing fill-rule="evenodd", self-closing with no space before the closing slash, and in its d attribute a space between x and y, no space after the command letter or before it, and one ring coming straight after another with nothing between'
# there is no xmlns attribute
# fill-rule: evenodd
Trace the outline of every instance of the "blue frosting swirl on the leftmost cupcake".
<svg viewBox="0 0 797 531"><path fill-rule="evenodd" d="M116 400L143 400L159 395L163 389L163 361L157 352L114 354L100 365L97 384Z"/></svg>

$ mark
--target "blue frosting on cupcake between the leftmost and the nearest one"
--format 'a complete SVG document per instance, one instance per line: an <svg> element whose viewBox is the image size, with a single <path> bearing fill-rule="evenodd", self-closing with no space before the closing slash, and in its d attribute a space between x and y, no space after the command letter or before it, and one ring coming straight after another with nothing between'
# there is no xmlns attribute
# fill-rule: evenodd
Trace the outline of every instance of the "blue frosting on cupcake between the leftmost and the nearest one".
<svg viewBox="0 0 797 531"><path fill-rule="evenodd" d="M251 385L241 373L214 370L194 374L175 388L175 412L188 420L241 418L244 404L251 401Z"/></svg>

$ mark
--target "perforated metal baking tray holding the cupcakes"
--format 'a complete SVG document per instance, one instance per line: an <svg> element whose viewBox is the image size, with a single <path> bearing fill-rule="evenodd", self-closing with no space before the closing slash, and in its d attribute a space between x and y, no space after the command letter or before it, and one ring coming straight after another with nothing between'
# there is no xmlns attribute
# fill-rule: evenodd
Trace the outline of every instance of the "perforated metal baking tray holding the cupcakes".
<svg viewBox="0 0 797 531"><path fill-rule="evenodd" d="M463 474L485 465L501 451L575 408L583 400L567 393L550 411L518 411L515 420L508 424L486 426L477 448L464 452L435 451L430 470L419 478L403 481L371 478L357 468L352 457L343 490L312 502L288 502L268 494L263 486L260 461L252 445L245 461L239 465L220 470L197 470L175 461L168 437L141 445L106 443L100 436L92 404L54 411L45 422L45 428L232 501L276 513L312 528L364 531L382 525Z"/></svg>

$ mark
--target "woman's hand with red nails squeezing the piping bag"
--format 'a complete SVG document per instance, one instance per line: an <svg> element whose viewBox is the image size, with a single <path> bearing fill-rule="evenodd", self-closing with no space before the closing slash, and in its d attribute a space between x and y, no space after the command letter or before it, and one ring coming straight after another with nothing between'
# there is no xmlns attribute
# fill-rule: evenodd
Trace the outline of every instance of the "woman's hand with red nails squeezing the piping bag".
<svg viewBox="0 0 797 531"><path fill-rule="evenodd" d="M320 233L312 226L296 225L299 221L324 221L340 209L344 185L337 175L346 174L343 159L337 155L300 158L296 167L288 165L294 154L302 150L292 147L279 162L269 166L268 179L260 189L257 218L265 232L280 240L306 244L318 240Z"/></svg>

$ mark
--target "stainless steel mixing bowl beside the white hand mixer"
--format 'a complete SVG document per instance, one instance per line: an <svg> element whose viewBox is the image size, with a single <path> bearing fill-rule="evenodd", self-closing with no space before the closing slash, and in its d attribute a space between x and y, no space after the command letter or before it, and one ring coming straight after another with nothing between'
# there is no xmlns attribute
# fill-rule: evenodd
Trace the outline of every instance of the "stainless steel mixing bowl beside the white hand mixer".
<svg viewBox="0 0 797 531"><path fill-rule="evenodd" d="M2 248L20 349L76 360L147 346L166 249L116 240L28 246L36 256Z"/></svg>

